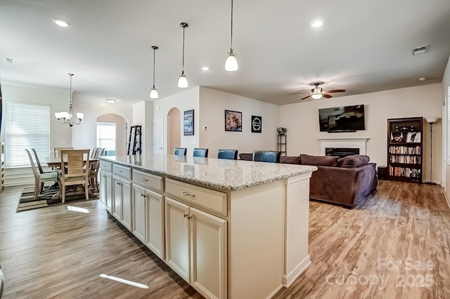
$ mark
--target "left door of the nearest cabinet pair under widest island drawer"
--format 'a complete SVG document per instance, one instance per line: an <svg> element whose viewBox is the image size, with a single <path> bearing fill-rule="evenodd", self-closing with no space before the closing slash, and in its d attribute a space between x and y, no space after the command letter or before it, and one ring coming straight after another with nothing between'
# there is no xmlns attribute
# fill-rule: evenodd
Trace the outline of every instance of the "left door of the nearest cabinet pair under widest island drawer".
<svg viewBox="0 0 450 299"><path fill-rule="evenodd" d="M190 282L189 271L189 207L165 198L166 263L184 280Z"/></svg>

